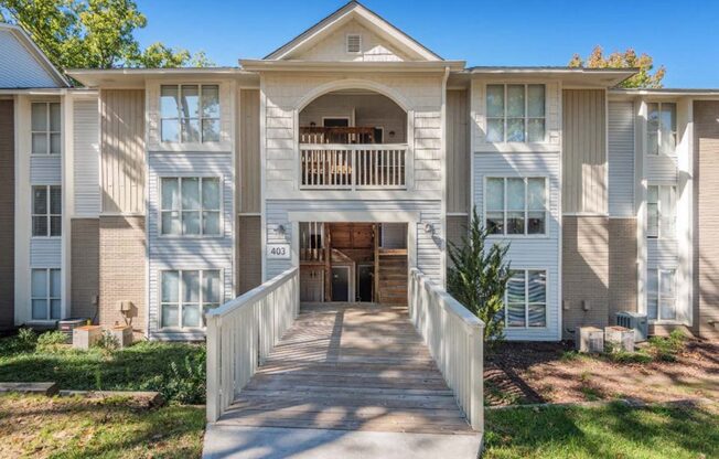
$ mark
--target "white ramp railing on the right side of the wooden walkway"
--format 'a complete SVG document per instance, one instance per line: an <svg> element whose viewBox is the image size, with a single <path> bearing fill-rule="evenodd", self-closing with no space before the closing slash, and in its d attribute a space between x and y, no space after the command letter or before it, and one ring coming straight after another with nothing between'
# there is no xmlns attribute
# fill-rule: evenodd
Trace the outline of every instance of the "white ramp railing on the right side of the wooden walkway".
<svg viewBox="0 0 719 459"><path fill-rule="evenodd" d="M472 428L484 430L484 322L419 269L409 271L409 317Z"/></svg>

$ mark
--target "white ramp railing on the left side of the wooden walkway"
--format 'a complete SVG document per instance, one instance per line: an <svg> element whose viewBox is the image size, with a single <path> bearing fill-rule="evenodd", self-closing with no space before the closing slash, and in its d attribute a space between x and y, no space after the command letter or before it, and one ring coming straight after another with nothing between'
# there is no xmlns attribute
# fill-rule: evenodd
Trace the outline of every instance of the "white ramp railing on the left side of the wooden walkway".
<svg viewBox="0 0 719 459"><path fill-rule="evenodd" d="M300 312L292 268L207 312L207 421L216 421Z"/></svg>

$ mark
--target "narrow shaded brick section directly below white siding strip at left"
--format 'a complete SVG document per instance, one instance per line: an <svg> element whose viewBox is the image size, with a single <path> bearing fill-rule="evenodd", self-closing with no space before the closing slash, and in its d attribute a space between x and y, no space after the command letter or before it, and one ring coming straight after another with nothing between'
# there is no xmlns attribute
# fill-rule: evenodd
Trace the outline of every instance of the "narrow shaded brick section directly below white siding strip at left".
<svg viewBox="0 0 719 459"><path fill-rule="evenodd" d="M93 303L99 295L100 230L98 218L72 222L72 305L71 316L97 320Z"/></svg>

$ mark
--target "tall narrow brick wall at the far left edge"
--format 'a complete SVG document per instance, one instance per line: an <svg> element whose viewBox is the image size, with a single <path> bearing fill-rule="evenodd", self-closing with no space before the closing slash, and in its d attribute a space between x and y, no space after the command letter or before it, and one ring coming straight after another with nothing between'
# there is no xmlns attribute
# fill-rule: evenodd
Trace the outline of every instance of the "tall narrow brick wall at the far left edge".
<svg viewBox="0 0 719 459"><path fill-rule="evenodd" d="M0 100L0 329L14 325L15 166L12 100Z"/></svg>

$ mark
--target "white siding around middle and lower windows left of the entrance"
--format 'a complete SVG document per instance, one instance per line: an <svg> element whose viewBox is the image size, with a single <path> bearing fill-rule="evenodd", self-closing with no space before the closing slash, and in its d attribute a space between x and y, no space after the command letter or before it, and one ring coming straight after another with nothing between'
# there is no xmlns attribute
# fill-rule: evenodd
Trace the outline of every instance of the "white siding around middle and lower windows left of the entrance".
<svg viewBox="0 0 719 459"><path fill-rule="evenodd" d="M149 154L148 244L150 337L158 339L201 339L203 334L164 333L159 329L159 271L161 269L222 269L224 300L233 297L233 163L232 153ZM160 178L221 177L223 234L217 237L160 237Z"/></svg>

